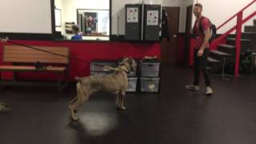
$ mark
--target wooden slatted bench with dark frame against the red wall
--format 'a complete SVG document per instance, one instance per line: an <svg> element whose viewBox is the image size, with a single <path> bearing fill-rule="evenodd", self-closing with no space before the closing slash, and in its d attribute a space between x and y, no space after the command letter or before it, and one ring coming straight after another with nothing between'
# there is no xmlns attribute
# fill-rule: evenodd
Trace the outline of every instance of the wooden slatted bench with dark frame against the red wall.
<svg viewBox="0 0 256 144"><path fill-rule="evenodd" d="M33 46L39 50L50 51L54 54L62 54L69 56L68 47L52 47L52 46ZM49 54L43 51L33 50L25 46L4 46L2 62L12 63L12 66L0 66L0 86L5 85L35 85L40 86L58 86L60 92L69 83L69 58L58 55ZM34 63L41 62L42 69L36 69ZM1 77L2 71L10 71L14 73L13 81L3 81ZM18 72L53 72L58 76L58 82L34 82L34 81L18 81ZM66 82L62 84L62 74L66 76Z"/></svg>

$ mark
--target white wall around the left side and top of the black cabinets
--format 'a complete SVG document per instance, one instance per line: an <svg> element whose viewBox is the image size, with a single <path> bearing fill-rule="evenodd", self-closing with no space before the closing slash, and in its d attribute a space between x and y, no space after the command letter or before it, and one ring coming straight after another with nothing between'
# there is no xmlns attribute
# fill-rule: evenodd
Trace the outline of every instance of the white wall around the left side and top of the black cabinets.
<svg viewBox="0 0 256 144"><path fill-rule="evenodd" d="M143 0L112 0L112 34L125 34L126 4L142 4ZM162 5L162 0L145 0L145 4ZM119 16L119 20L118 20ZM119 24L118 24L119 22Z"/></svg>

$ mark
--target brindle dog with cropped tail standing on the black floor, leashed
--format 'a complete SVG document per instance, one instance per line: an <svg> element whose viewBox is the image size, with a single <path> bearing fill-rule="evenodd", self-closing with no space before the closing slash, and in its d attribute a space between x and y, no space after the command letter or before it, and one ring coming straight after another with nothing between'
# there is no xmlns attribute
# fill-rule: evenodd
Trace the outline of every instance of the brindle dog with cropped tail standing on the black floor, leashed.
<svg viewBox="0 0 256 144"><path fill-rule="evenodd" d="M78 120L74 114L79 106L88 101L90 94L96 91L104 91L115 94L116 107L118 110L126 110L123 106L126 89L128 88L127 73L136 70L137 62L133 58L124 58L122 64L117 68L105 66L104 68L114 70L113 73L99 77L75 78L77 83L77 96L70 102L70 113L72 120Z"/></svg>

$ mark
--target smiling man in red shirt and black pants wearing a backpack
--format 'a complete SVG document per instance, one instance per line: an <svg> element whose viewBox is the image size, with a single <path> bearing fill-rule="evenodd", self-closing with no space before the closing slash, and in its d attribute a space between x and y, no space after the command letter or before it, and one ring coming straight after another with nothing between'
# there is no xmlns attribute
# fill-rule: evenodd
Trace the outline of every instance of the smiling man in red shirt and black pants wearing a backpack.
<svg viewBox="0 0 256 144"><path fill-rule="evenodd" d="M194 22L193 33L195 36L194 46L194 83L186 86L188 90L199 90L200 70L205 78L206 94L213 94L210 87L210 78L207 72L207 58L210 54L210 21L208 18L202 16L202 5L196 3L194 5L194 15L196 22Z"/></svg>

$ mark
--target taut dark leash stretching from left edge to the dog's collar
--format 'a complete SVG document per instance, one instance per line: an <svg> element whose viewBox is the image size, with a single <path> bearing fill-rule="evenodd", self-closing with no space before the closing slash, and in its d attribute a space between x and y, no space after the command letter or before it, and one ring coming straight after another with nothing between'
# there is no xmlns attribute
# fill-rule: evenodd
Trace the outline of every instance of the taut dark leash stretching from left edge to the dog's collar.
<svg viewBox="0 0 256 144"><path fill-rule="evenodd" d="M0 42L2 42L2 43L11 43L11 44L18 45L18 46L24 46L24 47L27 47L27 48L30 48L30 49L33 49L33 50L38 50L38 51L42 51L42 52L44 52L44 53L54 54L54 55L57 55L57 56L59 56L59 57L70 58L71 60L74 60L74 61L84 62L84 63L89 63L89 64L90 64L90 62L84 61L84 60L82 60L82 59L72 58L72 57L66 56L66 55L64 55L64 54L56 54L56 53L53 53L53 52L50 52L50 51L47 51L47 50L40 50L40 49L38 49L38 48L36 48L36 47L34 47L34 46L27 46L27 45L24 45L24 44L22 44L22 43L13 42L13 41L11 41L8 37L6 37L6 38L0 38ZM100 64L96 64L96 63L94 63L94 65L95 65L95 66L102 66L102 67L104 66L104 65L100 65Z"/></svg>

